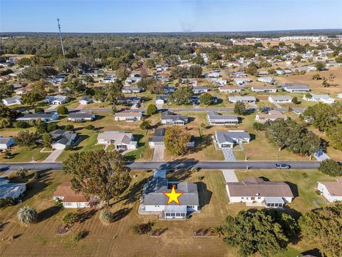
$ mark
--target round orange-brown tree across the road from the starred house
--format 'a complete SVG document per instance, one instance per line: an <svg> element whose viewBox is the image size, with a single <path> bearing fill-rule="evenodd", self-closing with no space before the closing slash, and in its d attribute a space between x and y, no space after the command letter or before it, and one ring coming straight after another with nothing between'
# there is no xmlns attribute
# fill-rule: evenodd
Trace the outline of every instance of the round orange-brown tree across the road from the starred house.
<svg viewBox="0 0 342 257"><path fill-rule="evenodd" d="M180 127L170 127L165 131L165 148L173 156L184 156L187 154L189 151L189 147L187 146L189 141L190 133L185 132L183 129L180 129Z"/></svg>

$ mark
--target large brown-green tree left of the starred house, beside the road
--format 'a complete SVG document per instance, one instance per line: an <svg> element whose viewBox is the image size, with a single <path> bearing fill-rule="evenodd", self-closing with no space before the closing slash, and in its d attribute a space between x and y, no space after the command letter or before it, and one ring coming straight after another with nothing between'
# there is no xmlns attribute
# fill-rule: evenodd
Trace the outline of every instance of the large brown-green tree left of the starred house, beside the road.
<svg viewBox="0 0 342 257"><path fill-rule="evenodd" d="M63 170L70 173L72 188L89 200L97 196L109 206L111 198L120 196L130 184L129 169L118 151L72 153Z"/></svg>

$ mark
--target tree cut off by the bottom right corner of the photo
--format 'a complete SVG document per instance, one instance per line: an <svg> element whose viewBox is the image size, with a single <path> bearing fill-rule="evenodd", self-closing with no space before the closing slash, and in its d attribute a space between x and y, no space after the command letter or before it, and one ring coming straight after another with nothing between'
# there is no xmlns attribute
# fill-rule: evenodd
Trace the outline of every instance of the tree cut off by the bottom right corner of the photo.
<svg viewBox="0 0 342 257"><path fill-rule="evenodd" d="M342 203L317 208L299 218L304 238L315 242L323 256L341 256Z"/></svg>

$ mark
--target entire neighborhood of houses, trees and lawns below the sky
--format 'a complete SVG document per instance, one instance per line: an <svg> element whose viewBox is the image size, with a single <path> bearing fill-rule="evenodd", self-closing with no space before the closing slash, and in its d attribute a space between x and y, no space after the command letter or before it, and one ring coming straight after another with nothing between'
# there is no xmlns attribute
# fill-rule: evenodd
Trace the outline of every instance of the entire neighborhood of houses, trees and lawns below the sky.
<svg viewBox="0 0 342 257"><path fill-rule="evenodd" d="M341 31L283 34L2 36L0 255L341 256Z"/></svg>

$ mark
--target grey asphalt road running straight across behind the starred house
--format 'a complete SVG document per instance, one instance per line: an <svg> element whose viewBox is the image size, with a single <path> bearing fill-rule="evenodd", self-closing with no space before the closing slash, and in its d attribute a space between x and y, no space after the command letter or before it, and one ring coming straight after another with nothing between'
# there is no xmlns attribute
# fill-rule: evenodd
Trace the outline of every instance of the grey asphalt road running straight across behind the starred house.
<svg viewBox="0 0 342 257"><path fill-rule="evenodd" d="M198 168L207 170L217 169L273 169L276 163L287 163L293 169L315 169L319 166L319 161L135 161L128 162L128 167L132 169L180 169ZM61 170L63 163L1 163L0 171L16 171L23 167L34 171Z"/></svg>

